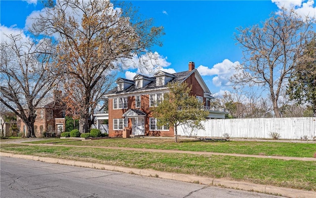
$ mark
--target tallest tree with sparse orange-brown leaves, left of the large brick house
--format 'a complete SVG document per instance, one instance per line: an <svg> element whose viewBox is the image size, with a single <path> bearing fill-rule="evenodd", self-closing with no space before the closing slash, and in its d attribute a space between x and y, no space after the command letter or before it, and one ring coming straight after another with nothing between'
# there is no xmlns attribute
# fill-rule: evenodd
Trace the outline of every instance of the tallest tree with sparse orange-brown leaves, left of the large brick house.
<svg viewBox="0 0 316 198"><path fill-rule="evenodd" d="M56 66L65 73L68 113L79 115L80 132L87 132L95 102L102 97L103 91L98 96L95 91L112 83L111 70L161 45L157 38L163 28L153 27L151 20L141 20L136 13L115 8L109 0L57 0L34 21L32 32L59 40Z"/></svg>

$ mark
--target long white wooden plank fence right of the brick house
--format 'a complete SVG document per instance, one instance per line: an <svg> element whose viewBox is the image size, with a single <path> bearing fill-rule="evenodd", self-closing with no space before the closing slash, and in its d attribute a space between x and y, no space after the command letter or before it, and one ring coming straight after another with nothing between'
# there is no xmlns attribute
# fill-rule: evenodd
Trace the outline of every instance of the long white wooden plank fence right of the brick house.
<svg viewBox="0 0 316 198"><path fill-rule="evenodd" d="M301 139L307 135L310 140L316 136L316 117L213 119L202 124L204 130L179 126L178 135L223 137L228 133L232 138L271 138L269 133L277 132L280 139Z"/></svg>

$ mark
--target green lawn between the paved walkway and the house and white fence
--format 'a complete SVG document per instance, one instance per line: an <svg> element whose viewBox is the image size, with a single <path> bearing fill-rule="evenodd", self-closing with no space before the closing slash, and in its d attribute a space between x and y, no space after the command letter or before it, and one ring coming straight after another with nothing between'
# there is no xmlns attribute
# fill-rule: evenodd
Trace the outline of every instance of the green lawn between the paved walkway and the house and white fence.
<svg viewBox="0 0 316 198"><path fill-rule="evenodd" d="M51 142L56 142L52 140ZM33 141L29 143L48 143L49 140ZM308 157L313 158L316 144L291 142L256 142L256 141L199 141L180 139L175 143L173 139L160 138L113 138L92 141L59 141L56 144L79 146L108 146L129 147L164 150L204 151L215 153L237 153L247 155Z"/></svg>

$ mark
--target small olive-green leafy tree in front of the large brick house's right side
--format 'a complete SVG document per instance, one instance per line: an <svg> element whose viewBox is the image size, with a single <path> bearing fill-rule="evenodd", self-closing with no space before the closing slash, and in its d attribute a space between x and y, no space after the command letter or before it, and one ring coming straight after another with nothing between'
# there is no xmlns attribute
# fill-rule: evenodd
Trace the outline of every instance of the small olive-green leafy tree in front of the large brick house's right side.
<svg viewBox="0 0 316 198"><path fill-rule="evenodd" d="M203 128L201 121L209 112L203 110L203 103L190 95L192 86L186 82L168 83L169 93L164 94L163 100L153 107L153 116L157 118L158 126L172 126L175 132L175 142L178 139L177 127L187 124L194 128Z"/></svg>

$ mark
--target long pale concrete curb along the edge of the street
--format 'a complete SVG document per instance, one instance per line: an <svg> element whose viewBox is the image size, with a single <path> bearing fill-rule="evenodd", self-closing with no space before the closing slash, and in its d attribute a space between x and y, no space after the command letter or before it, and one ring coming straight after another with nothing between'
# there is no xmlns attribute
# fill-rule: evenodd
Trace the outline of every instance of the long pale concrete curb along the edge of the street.
<svg viewBox="0 0 316 198"><path fill-rule="evenodd" d="M289 197L289 198L315 198L316 197L315 191L305 191L305 190L299 190L299 189L254 184L254 183L242 182L242 181L231 181L231 180L214 179L214 178L200 177L200 176L187 175L187 174L161 172L161 171L150 170L150 169L128 168L128 167L122 167L122 166L103 165L103 164L80 162L80 161L74 161L74 160L46 158L46 157L20 155L20 154L3 153L3 152L0 152L0 156L9 157L9 158L34 160L34 161L47 162L47 163L60 164L60 165L73 165L73 166L80 166L80 167L87 167L87 168L118 171L118 172L124 172L128 174L137 174L137 175L149 176L149 177L159 177L163 179L198 183L198 184L204 184L208 186L221 186L225 188L233 188L233 189L238 189L238 190L255 191L259 193L281 195L281 196Z"/></svg>

